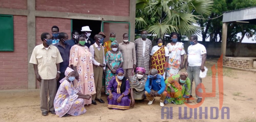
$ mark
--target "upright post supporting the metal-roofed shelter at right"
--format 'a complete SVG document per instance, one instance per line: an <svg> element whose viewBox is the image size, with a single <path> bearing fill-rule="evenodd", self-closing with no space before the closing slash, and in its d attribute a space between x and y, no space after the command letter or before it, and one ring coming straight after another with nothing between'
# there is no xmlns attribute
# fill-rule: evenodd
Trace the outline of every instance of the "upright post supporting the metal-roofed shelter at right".
<svg viewBox="0 0 256 122"><path fill-rule="evenodd" d="M227 47L227 22L224 22L222 24L222 39L221 39L221 54L223 54L223 57L226 56L226 47Z"/></svg>

